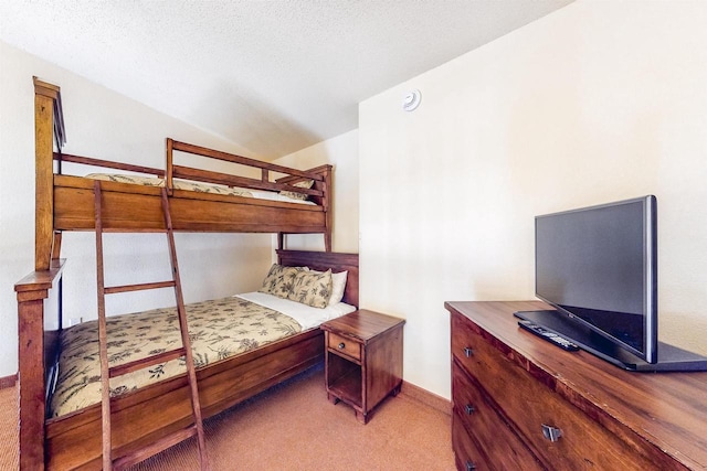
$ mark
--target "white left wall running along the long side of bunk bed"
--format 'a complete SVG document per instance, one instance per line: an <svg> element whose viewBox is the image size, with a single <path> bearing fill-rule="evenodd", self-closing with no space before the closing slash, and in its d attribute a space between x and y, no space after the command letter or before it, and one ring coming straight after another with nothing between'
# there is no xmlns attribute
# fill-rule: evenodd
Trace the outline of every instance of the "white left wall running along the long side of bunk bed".
<svg viewBox="0 0 707 471"><path fill-rule="evenodd" d="M32 76L60 85L66 153L165 167L165 138L247 152L75 74L0 42L0 377L18 371L13 285L34 267L34 88ZM82 169L84 171L84 169ZM229 296L260 286L271 263L270 235L177 234L184 300ZM165 235L105 237L106 282L169 278ZM65 233L65 317L96 317L95 237ZM170 290L109 298L108 312L173 306Z"/></svg>

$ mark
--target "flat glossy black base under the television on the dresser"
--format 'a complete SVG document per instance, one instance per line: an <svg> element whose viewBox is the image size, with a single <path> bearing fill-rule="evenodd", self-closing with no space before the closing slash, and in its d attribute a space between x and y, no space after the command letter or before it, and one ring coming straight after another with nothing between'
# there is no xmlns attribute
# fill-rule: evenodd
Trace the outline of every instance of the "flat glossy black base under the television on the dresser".
<svg viewBox="0 0 707 471"><path fill-rule="evenodd" d="M633 372L705 372L707 356L658 342L657 363L647 363L591 329L564 318L556 310L517 311L514 315L535 322L576 343L580 349Z"/></svg>

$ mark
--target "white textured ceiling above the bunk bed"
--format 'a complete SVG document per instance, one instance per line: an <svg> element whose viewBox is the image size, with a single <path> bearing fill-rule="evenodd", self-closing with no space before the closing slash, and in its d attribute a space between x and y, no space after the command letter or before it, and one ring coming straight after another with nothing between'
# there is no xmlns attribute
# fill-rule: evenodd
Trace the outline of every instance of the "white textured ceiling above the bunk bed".
<svg viewBox="0 0 707 471"><path fill-rule="evenodd" d="M0 40L274 159L571 1L0 0Z"/></svg>

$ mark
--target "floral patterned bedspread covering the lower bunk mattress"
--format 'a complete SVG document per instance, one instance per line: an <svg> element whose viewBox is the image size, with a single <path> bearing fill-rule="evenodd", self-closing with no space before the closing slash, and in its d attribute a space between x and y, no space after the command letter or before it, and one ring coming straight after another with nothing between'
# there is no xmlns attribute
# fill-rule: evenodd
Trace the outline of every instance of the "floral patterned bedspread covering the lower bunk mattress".
<svg viewBox="0 0 707 471"><path fill-rule="evenodd" d="M187 304L187 322L197 368L302 331L293 318L241 298ZM176 308L155 309L107 319L108 363L128 363L181 345ZM49 417L59 417L101 402L98 323L65 329L60 371ZM186 371L183 358L157 364L110 379L117 396Z"/></svg>

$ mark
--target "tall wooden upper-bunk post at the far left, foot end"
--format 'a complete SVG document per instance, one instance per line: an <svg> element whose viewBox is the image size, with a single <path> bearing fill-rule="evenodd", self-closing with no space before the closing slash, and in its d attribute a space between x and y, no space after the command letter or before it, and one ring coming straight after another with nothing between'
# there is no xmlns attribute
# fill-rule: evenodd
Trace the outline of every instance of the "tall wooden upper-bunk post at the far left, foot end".
<svg viewBox="0 0 707 471"><path fill-rule="evenodd" d="M54 239L54 114L60 89L34 77L34 269L48 270ZM61 119L56 124L62 122ZM57 139L61 142L61 139Z"/></svg>

